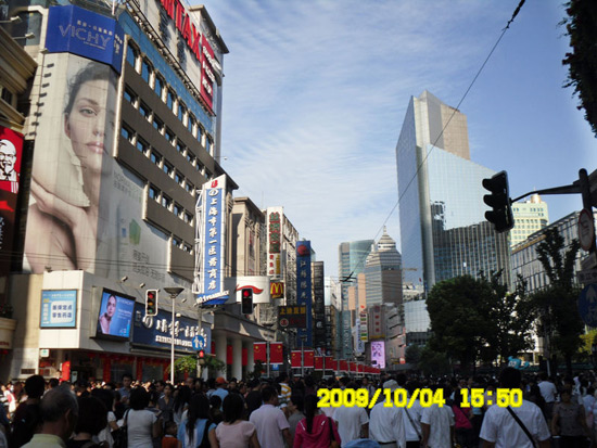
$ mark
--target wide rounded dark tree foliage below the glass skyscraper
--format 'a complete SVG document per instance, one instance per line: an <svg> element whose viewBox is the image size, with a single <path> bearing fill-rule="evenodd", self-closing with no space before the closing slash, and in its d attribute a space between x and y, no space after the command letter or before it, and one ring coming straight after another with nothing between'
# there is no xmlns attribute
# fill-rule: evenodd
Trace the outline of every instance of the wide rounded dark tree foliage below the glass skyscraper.
<svg viewBox="0 0 597 448"><path fill-rule="evenodd" d="M433 286L427 307L431 319L430 345L444 350L462 367L477 360L493 362L532 346L533 309L519 279L508 293L501 272L479 279L456 277Z"/></svg>

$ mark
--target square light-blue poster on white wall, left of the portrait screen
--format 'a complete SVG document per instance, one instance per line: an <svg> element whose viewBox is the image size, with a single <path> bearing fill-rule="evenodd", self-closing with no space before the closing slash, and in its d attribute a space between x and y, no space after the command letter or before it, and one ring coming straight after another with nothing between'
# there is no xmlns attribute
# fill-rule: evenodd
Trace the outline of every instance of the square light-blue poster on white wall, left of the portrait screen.
<svg viewBox="0 0 597 448"><path fill-rule="evenodd" d="M77 291L42 291L39 328L74 329L77 327Z"/></svg>

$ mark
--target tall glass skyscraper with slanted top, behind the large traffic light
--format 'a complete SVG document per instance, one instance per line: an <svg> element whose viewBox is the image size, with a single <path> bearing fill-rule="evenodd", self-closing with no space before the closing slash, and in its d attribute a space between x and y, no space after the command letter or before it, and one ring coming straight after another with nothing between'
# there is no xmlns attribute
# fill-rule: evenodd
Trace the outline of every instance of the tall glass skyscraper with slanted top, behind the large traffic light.
<svg viewBox="0 0 597 448"><path fill-rule="evenodd" d="M396 161L405 283L429 291L503 269L511 284L508 234L484 217L481 182L495 171L470 161L467 117L428 91L412 97Z"/></svg>

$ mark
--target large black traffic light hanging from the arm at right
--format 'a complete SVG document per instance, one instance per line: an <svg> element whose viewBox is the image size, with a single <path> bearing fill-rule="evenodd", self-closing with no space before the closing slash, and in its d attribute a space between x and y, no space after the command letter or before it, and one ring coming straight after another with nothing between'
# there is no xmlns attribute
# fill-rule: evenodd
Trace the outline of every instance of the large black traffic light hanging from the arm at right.
<svg viewBox="0 0 597 448"><path fill-rule="evenodd" d="M485 212L485 219L494 225L496 232L505 232L515 227L515 217L508 189L508 174L499 171L491 179L483 179L483 188L492 194L485 194L483 202L492 207Z"/></svg>

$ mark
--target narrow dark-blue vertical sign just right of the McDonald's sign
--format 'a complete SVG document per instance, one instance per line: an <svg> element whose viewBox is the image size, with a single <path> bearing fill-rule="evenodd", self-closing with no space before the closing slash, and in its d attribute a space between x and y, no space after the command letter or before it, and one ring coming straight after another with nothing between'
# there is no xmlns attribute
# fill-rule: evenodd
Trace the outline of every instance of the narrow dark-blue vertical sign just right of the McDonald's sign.
<svg viewBox="0 0 597 448"><path fill-rule="evenodd" d="M296 305L304 305L307 311L307 328L296 331L296 345L313 347L313 293L310 278L310 241L296 243Z"/></svg>

